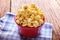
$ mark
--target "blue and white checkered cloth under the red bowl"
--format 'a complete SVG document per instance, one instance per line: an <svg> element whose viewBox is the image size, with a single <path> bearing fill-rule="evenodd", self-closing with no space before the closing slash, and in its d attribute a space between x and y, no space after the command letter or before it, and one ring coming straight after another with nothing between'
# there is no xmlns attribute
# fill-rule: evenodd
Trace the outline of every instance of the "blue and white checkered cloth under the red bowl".
<svg viewBox="0 0 60 40"><path fill-rule="evenodd" d="M0 40L52 40L52 24L45 22L39 36L27 38L18 34L14 16L15 14L8 12L0 18Z"/></svg>

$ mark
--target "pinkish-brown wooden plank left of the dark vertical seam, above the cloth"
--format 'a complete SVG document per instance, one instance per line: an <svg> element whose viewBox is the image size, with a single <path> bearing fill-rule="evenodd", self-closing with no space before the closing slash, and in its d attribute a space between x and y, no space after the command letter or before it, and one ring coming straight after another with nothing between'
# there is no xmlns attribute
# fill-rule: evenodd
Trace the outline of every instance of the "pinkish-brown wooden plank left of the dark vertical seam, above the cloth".
<svg viewBox="0 0 60 40"><path fill-rule="evenodd" d="M0 17L10 11L10 0L0 0Z"/></svg>

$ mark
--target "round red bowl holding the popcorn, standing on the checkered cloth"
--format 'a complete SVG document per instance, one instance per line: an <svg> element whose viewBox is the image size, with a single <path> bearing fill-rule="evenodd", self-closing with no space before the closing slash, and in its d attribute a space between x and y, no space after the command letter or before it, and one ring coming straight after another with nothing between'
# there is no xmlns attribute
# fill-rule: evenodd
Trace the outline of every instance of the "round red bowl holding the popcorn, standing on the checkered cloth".
<svg viewBox="0 0 60 40"><path fill-rule="evenodd" d="M16 16L14 17L14 20L16 22ZM45 18L43 18L43 21L45 22ZM37 28L23 27L22 25L19 25L18 23L16 24L18 25L19 34L25 37L36 37L37 35L40 34L40 29L44 23L38 26Z"/></svg>

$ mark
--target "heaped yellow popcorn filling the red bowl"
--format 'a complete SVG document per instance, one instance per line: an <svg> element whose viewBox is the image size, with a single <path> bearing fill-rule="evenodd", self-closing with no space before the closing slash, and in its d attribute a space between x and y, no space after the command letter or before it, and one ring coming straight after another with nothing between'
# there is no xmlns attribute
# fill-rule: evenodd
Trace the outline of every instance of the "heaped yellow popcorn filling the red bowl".
<svg viewBox="0 0 60 40"><path fill-rule="evenodd" d="M16 15L16 23L23 27L38 27L44 23L44 13L35 4L20 7Z"/></svg>

